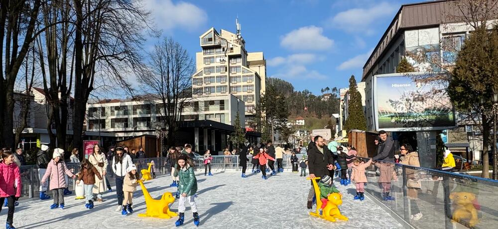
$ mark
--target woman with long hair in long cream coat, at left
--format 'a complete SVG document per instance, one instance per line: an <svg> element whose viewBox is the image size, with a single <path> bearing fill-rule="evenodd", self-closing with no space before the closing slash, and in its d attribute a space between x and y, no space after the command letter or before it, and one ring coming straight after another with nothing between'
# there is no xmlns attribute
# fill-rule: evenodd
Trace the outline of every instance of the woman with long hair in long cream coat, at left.
<svg viewBox="0 0 498 229"><path fill-rule="evenodd" d="M100 151L100 146L99 144L94 145L93 153L88 157L88 160L92 165L97 168L97 171L102 175L102 179L99 179L99 177L95 177L95 184L93 187L93 193L97 195L97 201L102 202L102 194L106 192L106 174L107 174L107 157L104 152Z"/></svg>

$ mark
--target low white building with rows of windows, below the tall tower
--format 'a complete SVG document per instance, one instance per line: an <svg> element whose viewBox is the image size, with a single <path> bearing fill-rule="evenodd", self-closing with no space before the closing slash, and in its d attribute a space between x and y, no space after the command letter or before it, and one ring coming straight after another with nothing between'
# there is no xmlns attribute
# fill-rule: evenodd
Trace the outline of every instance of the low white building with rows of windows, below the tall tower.
<svg viewBox="0 0 498 229"><path fill-rule="evenodd" d="M194 150L221 151L228 135L234 131L237 113L240 125L245 123L245 103L232 94L186 98L175 133L175 143L194 143ZM87 130L113 132L118 141L156 135L154 122L163 121L160 100L102 100L87 105ZM216 153L215 153L216 154Z"/></svg>

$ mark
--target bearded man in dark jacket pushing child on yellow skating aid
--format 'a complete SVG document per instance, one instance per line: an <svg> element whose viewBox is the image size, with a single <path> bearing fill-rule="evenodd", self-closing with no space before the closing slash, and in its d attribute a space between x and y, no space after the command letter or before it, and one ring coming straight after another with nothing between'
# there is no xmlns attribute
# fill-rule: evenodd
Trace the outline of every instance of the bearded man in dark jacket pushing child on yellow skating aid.
<svg viewBox="0 0 498 229"><path fill-rule="evenodd" d="M327 147L324 147L323 138L315 136L314 142L315 147L309 147L308 151L308 169L311 179L328 175L329 170L335 169L332 152ZM311 182L311 188L308 193L308 209L312 208L314 196L315 189L313 188L313 182Z"/></svg>

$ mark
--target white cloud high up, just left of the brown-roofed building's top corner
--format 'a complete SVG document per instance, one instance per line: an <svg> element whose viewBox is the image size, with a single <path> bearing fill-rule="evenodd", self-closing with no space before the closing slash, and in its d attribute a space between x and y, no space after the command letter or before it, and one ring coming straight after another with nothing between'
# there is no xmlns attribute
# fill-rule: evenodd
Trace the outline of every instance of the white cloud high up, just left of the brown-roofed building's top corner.
<svg viewBox="0 0 498 229"><path fill-rule="evenodd" d="M372 7L352 8L339 12L327 19L326 24L351 33L361 32L372 35L375 31L372 25L378 19L392 16L394 10L396 10L394 4L381 2Z"/></svg>

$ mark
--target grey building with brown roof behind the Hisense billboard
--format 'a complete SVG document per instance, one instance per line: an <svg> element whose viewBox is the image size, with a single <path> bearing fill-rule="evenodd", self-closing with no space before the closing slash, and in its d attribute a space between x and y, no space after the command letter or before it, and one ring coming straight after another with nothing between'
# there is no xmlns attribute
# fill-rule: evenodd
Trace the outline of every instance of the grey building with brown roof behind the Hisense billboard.
<svg viewBox="0 0 498 229"><path fill-rule="evenodd" d="M466 17L462 16L466 12L455 7L454 2L434 0L404 4L397 11L363 67L369 131L379 131L374 126L375 75L396 73L396 67L403 57L417 72L437 73L454 64L466 37L473 30L469 22L464 21ZM493 19L488 23L490 28L497 21L497 12L496 9L490 10L489 18ZM422 166L435 166L436 131L391 134L395 144L409 142L417 146Z"/></svg>

